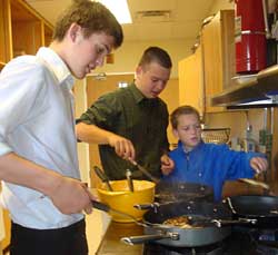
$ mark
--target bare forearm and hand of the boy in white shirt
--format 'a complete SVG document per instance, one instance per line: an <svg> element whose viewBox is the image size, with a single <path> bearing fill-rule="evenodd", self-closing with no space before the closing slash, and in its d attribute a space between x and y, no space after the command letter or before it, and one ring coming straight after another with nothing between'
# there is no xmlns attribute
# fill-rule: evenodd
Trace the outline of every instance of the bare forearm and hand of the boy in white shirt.
<svg viewBox="0 0 278 255"><path fill-rule="evenodd" d="M63 214L91 210L90 199L93 197L81 182L63 177L13 153L0 156L0 179L44 194Z"/></svg>

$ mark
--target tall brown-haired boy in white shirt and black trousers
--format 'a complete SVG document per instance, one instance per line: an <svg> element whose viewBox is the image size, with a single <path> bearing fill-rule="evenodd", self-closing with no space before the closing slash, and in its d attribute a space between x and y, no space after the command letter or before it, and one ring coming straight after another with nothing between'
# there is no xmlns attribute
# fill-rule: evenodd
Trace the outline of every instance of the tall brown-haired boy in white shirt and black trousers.
<svg viewBox="0 0 278 255"><path fill-rule="evenodd" d="M91 212L93 197L80 182L71 88L122 39L107 8L76 1L48 48L1 71L1 204L12 219L11 255L88 254L81 212Z"/></svg>

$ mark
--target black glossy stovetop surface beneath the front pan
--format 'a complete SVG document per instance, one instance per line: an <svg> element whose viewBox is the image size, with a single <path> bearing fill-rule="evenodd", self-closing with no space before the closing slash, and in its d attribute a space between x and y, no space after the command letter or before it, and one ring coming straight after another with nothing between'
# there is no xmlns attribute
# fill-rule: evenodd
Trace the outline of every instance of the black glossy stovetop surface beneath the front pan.
<svg viewBox="0 0 278 255"><path fill-rule="evenodd" d="M232 228L224 241L196 247L172 247L158 243L143 245L143 255L278 255L278 229Z"/></svg>

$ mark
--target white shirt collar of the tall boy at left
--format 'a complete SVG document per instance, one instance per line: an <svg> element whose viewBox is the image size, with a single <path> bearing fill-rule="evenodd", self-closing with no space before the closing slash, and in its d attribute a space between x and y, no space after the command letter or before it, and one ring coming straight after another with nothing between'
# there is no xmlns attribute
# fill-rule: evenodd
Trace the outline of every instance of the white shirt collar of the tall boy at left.
<svg viewBox="0 0 278 255"><path fill-rule="evenodd" d="M50 71L52 71L58 79L59 84L64 82L69 89L73 87L75 79L67 65L57 52L50 48L41 47L37 52L37 56L43 59Z"/></svg>

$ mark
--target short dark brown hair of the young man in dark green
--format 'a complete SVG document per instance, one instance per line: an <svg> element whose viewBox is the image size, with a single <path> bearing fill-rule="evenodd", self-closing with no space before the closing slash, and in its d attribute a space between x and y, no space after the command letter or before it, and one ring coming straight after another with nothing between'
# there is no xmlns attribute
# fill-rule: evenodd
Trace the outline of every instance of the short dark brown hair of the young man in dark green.
<svg viewBox="0 0 278 255"><path fill-rule="evenodd" d="M150 62L158 62L161 67L170 69L172 67L171 58L168 52L159 47L149 47L143 51L139 66Z"/></svg>

